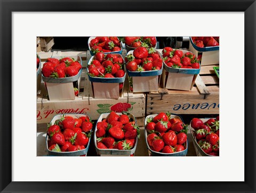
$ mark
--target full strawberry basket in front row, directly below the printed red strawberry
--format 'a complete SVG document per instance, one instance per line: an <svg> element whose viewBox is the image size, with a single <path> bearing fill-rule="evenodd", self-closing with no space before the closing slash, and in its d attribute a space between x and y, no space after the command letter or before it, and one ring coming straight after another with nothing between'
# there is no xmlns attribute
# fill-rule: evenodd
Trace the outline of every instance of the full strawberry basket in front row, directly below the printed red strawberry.
<svg viewBox="0 0 256 193"><path fill-rule="evenodd" d="M134 156L140 129L132 114L103 113L94 133L94 144L100 156Z"/></svg>

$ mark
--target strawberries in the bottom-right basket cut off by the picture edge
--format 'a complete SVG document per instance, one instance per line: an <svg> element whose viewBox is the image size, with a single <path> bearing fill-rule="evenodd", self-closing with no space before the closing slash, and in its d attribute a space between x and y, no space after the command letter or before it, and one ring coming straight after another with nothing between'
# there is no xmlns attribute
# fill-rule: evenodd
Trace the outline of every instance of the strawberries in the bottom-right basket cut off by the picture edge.
<svg viewBox="0 0 256 193"><path fill-rule="evenodd" d="M209 155L219 156L219 116L216 119L209 119L203 122L201 119L193 118L191 127L195 129L194 135L197 144Z"/></svg>

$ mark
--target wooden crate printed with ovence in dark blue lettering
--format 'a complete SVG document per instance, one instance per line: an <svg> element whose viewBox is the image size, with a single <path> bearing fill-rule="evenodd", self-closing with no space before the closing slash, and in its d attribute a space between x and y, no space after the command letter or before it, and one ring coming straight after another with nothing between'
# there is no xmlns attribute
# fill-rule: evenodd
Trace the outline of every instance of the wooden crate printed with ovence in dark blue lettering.
<svg viewBox="0 0 256 193"><path fill-rule="evenodd" d="M219 78L213 66L202 66L190 91L167 90L147 94L147 115L160 112L176 114L219 114ZM162 82L161 82L162 83Z"/></svg>

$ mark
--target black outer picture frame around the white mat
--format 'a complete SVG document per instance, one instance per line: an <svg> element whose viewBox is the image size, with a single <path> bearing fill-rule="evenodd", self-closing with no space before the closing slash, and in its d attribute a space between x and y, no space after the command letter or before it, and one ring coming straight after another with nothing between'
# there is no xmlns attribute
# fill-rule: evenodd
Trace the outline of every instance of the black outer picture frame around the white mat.
<svg viewBox="0 0 256 193"><path fill-rule="evenodd" d="M7 1L1 6L0 191L1 192L255 192L255 1ZM184 6L186 5L186 6ZM245 13L244 182L17 182L12 181L12 12L205 11ZM238 156L238 155L235 155Z"/></svg>

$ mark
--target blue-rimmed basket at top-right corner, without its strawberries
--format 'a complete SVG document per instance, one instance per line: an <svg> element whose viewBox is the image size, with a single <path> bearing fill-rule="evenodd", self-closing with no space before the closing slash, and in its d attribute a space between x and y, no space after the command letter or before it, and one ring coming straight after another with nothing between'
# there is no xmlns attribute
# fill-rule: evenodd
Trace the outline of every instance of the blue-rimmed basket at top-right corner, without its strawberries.
<svg viewBox="0 0 256 193"><path fill-rule="evenodd" d="M196 46L192 38L189 37L189 51L193 52L193 54L198 57L199 54L202 54L201 65L213 65L219 64L219 49L220 46L212 46L212 47L198 47Z"/></svg>

